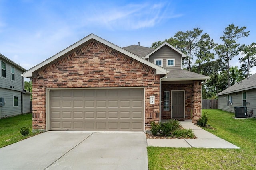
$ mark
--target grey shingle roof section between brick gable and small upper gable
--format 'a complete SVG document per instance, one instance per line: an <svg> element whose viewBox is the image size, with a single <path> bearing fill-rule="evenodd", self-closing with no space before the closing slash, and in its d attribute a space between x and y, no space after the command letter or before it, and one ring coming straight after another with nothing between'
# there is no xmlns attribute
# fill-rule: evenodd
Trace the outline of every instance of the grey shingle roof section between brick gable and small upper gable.
<svg viewBox="0 0 256 170"><path fill-rule="evenodd" d="M143 47L140 45L130 45L127 47L123 47L126 51L129 51L139 57L145 57L148 53L154 51L153 48Z"/></svg>

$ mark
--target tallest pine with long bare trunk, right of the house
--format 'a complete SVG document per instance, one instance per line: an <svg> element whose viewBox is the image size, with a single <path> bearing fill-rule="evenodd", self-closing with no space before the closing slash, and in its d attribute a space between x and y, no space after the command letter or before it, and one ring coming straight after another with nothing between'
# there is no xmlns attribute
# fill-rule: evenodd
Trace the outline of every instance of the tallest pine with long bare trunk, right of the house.
<svg viewBox="0 0 256 170"><path fill-rule="evenodd" d="M248 37L250 31L246 32L245 29L246 27L239 28L234 24L228 25L223 32L224 35L220 37L223 44L220 44L214 48L219 58L226 62L228 87L230 87L229 61L239 54L240 44L238 43L238 39Z"/></svg>

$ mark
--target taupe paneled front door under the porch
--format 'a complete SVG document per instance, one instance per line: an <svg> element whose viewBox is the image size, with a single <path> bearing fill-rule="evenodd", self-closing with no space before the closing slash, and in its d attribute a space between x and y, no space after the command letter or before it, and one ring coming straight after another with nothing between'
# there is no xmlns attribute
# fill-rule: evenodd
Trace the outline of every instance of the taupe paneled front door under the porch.
<svg viewBox="0 0 256 170"><path fill-rule="evenodd" d="M172 118L184 118L184 91L172 91Z"/></svg>

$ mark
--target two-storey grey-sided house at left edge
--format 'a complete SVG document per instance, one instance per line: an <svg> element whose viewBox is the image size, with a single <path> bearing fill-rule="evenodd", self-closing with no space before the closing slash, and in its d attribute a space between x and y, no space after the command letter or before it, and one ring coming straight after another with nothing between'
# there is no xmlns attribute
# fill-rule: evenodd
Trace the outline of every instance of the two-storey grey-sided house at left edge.
<svg viewBox="0 0 256 170"><path fill-rule="evenodd" d="M26 69L0 54L0 118L31 112L31 92L24 90Z"/></svg>

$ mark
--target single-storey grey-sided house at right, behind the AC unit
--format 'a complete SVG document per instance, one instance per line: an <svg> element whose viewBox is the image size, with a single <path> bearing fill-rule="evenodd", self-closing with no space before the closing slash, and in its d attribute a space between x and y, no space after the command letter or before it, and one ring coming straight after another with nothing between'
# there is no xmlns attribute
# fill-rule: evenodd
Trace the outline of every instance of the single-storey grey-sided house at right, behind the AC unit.
<svg viewBox="0 0 256 170"><path fill-rule="evenodd" d="M253 110L256 117L256 74L230 86L217 94L218 108L234 113L234 107L247 107L247 113Z"/></svg>

